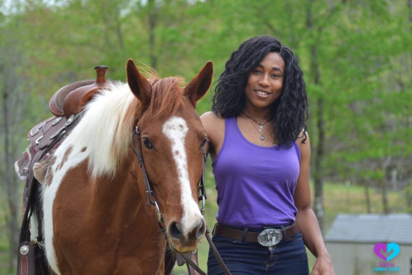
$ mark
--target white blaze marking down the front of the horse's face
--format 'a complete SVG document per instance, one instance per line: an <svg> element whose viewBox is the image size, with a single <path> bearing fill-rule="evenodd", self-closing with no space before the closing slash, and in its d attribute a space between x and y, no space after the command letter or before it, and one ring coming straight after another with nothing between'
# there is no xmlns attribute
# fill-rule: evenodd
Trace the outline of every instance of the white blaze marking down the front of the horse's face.
<svg viewBox="0 0 412 275"><path fill-rule="evenodd" d="M187 154L185 149L185 139L189 130L186 121L183 118L173 116L164 124L162 132L171 142L171 151L176 169L178 172L179 182L181 184L181 198L183 207L183 217L181 224L184 234L187 234L202 218L198 204L192 196L190 187Z"/></svg>

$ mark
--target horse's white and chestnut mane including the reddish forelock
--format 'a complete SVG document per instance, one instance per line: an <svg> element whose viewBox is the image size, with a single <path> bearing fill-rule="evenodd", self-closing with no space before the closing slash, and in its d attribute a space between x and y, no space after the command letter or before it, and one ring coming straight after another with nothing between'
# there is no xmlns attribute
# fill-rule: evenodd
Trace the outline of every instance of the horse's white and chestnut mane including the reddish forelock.
<svg viewBox="0 0 412 275"><path fill-rule="evenodd" d="M144 120L169 117L183 106L185 96L181 77L149 77L152 98L145 111ZM137 119L141 116L141 104L128 84L111 82L87 103L84 115L70 134L71 140L81 148L87 148L89 171L92 177L114 176L129 154L130 139Z"/></svg>

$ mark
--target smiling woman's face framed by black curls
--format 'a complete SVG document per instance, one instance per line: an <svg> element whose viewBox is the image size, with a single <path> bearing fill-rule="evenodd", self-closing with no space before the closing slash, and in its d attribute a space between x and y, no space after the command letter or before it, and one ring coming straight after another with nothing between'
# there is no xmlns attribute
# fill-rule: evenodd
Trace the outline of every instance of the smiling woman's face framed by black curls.
<svg viewBox="0 0 412 275"><path fill-rule="evenodd" d="M245 107L267 108L279 98L282 92L285 62L277 52L269 52L254 67L245 87Z"/></svg>

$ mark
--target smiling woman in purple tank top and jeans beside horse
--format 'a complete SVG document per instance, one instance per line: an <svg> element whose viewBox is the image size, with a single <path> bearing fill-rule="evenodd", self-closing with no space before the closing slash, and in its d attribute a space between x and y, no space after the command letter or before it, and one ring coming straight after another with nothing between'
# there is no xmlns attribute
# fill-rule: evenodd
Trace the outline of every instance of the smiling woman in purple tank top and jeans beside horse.
<svg viewBox="0 0 412 275"><path fill-rule="evenodd" d="M334 274L311 209L307 117L289 48L261 36L232 53L201 120L218 193L213 240L233 274L309 274L304 244L312 274ZM208 274L223 274L211 252Z"/></svg>

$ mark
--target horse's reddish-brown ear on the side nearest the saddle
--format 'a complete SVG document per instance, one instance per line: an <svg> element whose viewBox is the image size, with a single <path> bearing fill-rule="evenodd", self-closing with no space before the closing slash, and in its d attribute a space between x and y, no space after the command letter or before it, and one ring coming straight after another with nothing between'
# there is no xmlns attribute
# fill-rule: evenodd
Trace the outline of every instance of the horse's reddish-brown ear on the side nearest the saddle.
<svg viewBox="0 0 412 275"><path fill-rule="evenodd" d="M132 90L143 106L149 105L152 96L152 85L150 85L148 79L141 75L136 64L131 59L127 61L126 72L130 90Z"/></svg>

